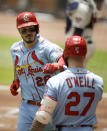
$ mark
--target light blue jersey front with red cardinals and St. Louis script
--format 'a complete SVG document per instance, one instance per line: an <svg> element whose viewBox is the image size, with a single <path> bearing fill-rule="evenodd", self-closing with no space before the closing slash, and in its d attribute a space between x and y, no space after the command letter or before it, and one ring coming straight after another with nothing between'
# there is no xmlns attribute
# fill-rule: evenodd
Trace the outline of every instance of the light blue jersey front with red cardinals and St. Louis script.
<svg viewBox="0 0 107 131"><path fill-rule="evenodd" d="M26 49L22 40L13 44L10 50L21 83L22 98L40 101L50 78L50 75L42 73L43 68L46 63L57 62L63 50L40 36L33 48Z"/></svg>

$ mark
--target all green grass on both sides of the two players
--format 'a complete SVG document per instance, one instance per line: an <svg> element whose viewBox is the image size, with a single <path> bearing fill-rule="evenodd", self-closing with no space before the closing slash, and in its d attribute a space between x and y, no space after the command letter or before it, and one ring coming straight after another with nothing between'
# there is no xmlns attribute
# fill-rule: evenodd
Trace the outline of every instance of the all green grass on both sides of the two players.
<svg viewBox="0 0 107 131"><path fill-rule="evenodd" d="M13 64L10 55L11 45L19 41L18 38L0 36L0 85L10 85L13 80ZM59 44L64 48L64 45ZM96 51L88 62L88 69L104 80L104 91L107 92L107 51Z"/></svg>

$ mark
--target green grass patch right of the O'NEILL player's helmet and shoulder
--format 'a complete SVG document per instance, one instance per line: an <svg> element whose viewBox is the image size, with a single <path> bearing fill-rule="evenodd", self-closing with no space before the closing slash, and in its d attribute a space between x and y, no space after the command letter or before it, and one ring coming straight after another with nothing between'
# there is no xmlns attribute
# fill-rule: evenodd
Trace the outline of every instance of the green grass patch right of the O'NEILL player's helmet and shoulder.
<svg viewBox="0 0 107 131"><path fill-rule="evenodd" d="M88 69L103 78L104 91L107 92L107 51L96 51L88 61Z"/></svg>

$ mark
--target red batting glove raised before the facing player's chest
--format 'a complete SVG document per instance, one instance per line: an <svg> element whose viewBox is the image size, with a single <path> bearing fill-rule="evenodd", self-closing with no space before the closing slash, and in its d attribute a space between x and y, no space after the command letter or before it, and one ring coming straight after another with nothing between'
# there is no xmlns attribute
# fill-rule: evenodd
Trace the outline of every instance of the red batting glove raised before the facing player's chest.
<svg viewBox="0 0 107 131"><path fill-rule="evenodd" d="M64 71L63 66L59 66L58 64L46 64L43 70L44 74L53 74L56 71Z"/></svg>

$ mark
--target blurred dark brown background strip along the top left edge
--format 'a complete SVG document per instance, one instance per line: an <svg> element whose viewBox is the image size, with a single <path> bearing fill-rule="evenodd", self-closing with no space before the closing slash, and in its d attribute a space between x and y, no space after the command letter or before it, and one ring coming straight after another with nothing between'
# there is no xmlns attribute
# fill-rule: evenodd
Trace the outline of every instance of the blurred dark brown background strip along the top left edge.
<svg viewBox="0 0 107 131"><path fill-rule="evenodd" d="M0 0L0 10L7 11L38 11L53 13L56 16L65 15L67 0Z"/></svg>

